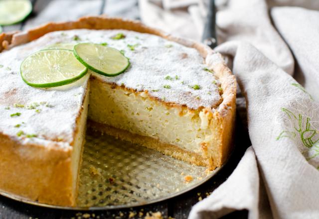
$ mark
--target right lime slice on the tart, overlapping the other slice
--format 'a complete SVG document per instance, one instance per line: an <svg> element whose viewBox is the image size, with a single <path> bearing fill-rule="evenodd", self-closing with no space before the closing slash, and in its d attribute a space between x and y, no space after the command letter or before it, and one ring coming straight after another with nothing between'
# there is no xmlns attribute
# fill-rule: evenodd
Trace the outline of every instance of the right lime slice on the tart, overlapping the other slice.
<svg viewBox="0 0 319 219"><path fill-rule="evenodd" d="M119 50L94 43L80 43L74 46L75 57L88 69L105 76L123 73L130 65Z"/></svg>

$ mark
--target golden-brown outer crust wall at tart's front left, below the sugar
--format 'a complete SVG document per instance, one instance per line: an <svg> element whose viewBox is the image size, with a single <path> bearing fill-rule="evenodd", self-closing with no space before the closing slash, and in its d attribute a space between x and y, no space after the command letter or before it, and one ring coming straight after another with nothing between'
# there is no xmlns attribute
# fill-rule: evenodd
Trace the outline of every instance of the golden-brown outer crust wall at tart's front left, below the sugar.
<svg viewBox="0 0 319 219"><path fill-rule="evenodd" d="M1 133L0 142L0 190L40 203L74 205L71 150L54 143L22 145Z"/></svg>

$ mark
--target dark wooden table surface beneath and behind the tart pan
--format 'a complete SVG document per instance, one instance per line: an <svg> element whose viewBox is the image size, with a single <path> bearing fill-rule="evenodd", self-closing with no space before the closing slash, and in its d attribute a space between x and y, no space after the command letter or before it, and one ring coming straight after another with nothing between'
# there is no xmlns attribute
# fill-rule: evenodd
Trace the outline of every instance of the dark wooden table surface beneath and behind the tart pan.
<svg viewBox="0 0 319 219"><path fill-rule="evenodd" d="M139 19L138 0L31 0L33 11L22 23L4 26L3 31L25 30L48 21L74 20L84 15L107 14L131 19ZM0 196L0 219L78 219L78 218L129 218L130 213L137 213L134 218L144 218L146 213L160 212L163 218L185 219L199 199L204 199L222 184L237 166L246 148L250 145L247 129L236 122L235 148L226 165L203 185L175 198L147 205L140 208L113 211L68 211L47 209L20 203ZM139 217L139 212L143 217ZM246 219L248 212L237 211L224 218Z"/></svg>

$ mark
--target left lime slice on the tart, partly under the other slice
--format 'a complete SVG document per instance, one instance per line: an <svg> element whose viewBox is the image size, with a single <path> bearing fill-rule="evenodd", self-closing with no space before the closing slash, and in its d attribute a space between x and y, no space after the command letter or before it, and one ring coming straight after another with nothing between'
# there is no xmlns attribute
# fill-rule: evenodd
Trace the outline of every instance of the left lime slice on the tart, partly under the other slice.
<svg viewBox="0 0 319 219"><path fill-rule="evenodd" d="M70 84L82 78L87 71L72 50L66 49L41 50L26 57L20 66L23 81L37 88Z"/></svg>

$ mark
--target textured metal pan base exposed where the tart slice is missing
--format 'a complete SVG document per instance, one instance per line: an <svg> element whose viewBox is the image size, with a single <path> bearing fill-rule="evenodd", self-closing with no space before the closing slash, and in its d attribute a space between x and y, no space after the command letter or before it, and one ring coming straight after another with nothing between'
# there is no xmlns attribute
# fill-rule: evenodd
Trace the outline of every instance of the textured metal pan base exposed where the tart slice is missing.
<svg viewBox="0 0 319 219"><path fill-rule="evenodd" d="M131 208L185 193L206 182L220 168L208 174L205 169L89 129L80 167L77 207L46 205L1 191L0 194L57 209ZM186 182L187 175L193 180Z"/></svg>

